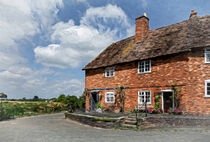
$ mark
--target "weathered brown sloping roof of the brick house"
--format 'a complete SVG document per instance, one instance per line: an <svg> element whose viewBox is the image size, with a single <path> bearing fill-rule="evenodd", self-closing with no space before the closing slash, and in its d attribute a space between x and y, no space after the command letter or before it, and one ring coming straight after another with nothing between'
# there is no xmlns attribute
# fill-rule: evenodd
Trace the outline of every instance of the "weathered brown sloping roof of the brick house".
<svg viewBox="0 0 210 142"><path fill-rule="evenodd" d="M83 70L112 66L119 63L154 58L210 46L210 15L194 16L189 20L150 30L142 42L135 37L108 46Z"/></svg>

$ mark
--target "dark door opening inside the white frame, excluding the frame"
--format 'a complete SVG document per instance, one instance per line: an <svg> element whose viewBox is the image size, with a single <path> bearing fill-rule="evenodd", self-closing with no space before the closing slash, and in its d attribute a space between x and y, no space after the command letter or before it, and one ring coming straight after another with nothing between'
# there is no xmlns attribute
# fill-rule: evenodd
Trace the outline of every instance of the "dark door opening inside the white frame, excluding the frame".
<svg viewBox="0 0 210 142"><path fill-rule="evenodd" d="M173 92L163 92L163 110L164 112L169 112L170 109L173 109Z"/></svg>

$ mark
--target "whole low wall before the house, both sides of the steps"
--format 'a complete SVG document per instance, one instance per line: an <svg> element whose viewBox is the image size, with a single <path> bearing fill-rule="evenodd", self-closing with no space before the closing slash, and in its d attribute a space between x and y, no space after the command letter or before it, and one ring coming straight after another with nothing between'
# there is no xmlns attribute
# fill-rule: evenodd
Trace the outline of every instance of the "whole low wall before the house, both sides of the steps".
<svg viewBox="0 0 210 142"><path fill-rule="evenodd" d="M133 117L135 122L135 115ZM88 114L65 113L65 118L78 121L94 127L101 128L119 128L128 117L100 117ZM184 127L202 127L210 128L210 116L176 116L176 115L149 115L139 118L140 128L184 128ZM123 128L123 127L122 127Z"/></svg>

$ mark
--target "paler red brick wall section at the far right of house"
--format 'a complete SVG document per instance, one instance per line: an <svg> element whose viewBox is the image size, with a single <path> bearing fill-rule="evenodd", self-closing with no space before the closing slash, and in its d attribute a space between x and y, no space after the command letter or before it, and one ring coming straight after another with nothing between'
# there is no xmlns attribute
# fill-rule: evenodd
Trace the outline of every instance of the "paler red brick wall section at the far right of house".
<svg viewBox="0 0 210 142"><path fill-rule="evenodd" d="M188 65L187 110L194 114L210 114L210 98L204 97L205 80L210 79L210 64L205 63L204 50L192 51Z"/></svg>

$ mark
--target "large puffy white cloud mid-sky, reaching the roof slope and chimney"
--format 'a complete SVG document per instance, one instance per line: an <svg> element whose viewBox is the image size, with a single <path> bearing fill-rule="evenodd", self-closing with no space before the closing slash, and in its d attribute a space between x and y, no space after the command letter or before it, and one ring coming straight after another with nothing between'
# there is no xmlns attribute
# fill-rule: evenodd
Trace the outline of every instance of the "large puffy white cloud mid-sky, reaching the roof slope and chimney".
<svg viewBox="0 0 210 142"><path fill-rule="evenodd" d="M78 67L87 62L112 42L131 35L134 31L124 11L107 5L87 9L75 25L73 20L53 26L51 44L34 49L37 62L49 67Z"/></svg>

